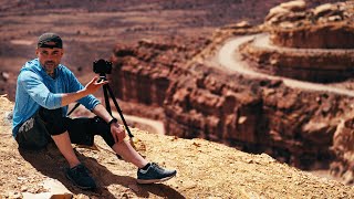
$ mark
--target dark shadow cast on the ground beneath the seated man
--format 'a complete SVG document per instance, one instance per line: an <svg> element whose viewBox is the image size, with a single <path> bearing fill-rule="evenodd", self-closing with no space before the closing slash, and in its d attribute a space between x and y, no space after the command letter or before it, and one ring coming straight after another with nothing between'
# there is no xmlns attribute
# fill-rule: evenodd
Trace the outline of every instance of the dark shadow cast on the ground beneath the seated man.
<svg viewBox="0 0 354 199"><path fill-rule="evenodd" d="M29 161L38 171L50 178L56 179L62 182L65 188L74 195L86 195L88 197L103 197L103 198L117 198L116 195L110 192L107 187L110 185L121 185L132 190L137 197L147 198L149 193L164 197L164 198L185 198L175 189L163 184L155 185L138 185L135 178L129 176L118 176L111 172L106 167L97 163L96 159L83 156L75 151L77 158L86 165L91 175L96 180L97 189L82 190L75 187L66 177L65 170L67 163L60 154L56 146L50 144L46 148L41 150L28 150L19 148L21 156ZM111 190L112 191L112 190ZM118 190L117 190L118 191ZM128 191L127 191L128 192ZM119 193L124 197L125 193Z"/></svg>

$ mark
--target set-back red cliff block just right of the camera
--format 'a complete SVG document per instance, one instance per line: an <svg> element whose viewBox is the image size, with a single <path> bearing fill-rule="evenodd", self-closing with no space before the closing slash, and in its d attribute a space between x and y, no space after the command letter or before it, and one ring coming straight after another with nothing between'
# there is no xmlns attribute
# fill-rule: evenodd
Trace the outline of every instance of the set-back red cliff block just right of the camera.
<svg viewBox="0 0 354 199"><path fill-rule="evenodd" d="M199 41L199 42L198 42ZM204 46L207 39L183 42L153 42L142 40L137 46L117 44L114 50L112 83L115 94L123 101L162 106L170 82L170 76L180 63L186 63Z"/></svg>

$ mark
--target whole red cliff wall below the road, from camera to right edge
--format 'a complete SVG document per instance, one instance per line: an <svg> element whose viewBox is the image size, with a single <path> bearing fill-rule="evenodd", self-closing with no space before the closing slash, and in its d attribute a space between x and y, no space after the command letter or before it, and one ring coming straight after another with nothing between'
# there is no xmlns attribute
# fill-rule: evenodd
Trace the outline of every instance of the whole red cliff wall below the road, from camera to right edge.
<svg viewBox="0 0 354 199"><path fill-rule="evenodd" d="M300 168L327 167L334 158L334 132L354 100L188 63L208 43L198 40L191 49L157 42L118 46L112 74L117 96L163 107L168 135L267 151Z"/></svg>

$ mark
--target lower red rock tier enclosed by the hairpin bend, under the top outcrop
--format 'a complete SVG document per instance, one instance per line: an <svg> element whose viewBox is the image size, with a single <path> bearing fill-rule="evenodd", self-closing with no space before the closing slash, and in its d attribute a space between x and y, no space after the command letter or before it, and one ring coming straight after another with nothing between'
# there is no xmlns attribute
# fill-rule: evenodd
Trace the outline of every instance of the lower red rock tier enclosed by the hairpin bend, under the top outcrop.
<svg viewBox="0 0 354 199"><path fill-rule="evenodd" d="M354 50L290 49L268 43L269 35L262 34L239 48L254 71L320 83L345 81L354 75Z"/></svg>

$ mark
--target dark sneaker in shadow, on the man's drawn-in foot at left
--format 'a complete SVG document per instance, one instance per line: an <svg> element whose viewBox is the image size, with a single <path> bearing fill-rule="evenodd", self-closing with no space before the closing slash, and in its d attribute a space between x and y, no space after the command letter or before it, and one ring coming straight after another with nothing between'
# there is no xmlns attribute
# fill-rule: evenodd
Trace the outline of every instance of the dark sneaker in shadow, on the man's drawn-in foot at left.
<svg viewBox="0 0 354 199"><path fill-rule="evenodd" d="M82 164L71 169L67 169L66 178L69 178L75 186L77 186L81 189L96 188L95 180L88 175L88 169Z"/></svg>

